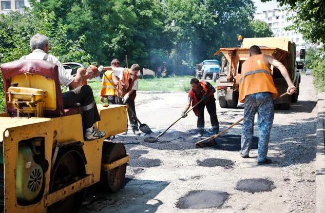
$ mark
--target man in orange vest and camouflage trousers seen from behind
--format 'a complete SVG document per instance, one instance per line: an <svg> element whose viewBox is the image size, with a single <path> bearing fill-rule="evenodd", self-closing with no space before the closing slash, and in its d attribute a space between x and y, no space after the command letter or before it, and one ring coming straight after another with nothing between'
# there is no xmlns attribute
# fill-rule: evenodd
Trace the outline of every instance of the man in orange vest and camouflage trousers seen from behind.
<svg viewBox="0 0 325 213"><path fill-rule="evenodd" d="M273 82L271 65L280 70L283 75L288 84L286 92L293 94L296 87L285 66L273 56L262 54L256 45L250 48L250 57L242 64L239 79L239 101L245 103L240 156L249 158L254 117L257 112L259 129L257 164L259 165L272 162L271 159L266 158L266 155L274 118L273 100L277 98L278 91Z"/></svg>

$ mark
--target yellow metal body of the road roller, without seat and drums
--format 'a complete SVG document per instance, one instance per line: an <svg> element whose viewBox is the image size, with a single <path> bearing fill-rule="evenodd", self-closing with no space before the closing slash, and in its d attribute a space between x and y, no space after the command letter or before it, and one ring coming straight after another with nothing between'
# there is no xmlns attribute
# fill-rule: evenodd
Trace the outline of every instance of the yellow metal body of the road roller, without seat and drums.
<svg viewBox="0 0 325 213"><path fill-rule="evenodd" d="M127 109L125 105L99 109L101 121L98 126L114 135L126 130ZM50 167L44 172L44 193L40 202L28 206L18 205L16 200L15 169L17 164L18 142L35 137L44 138L45 160ZM47 212L47 207L72 193L100 181L101 169L111 170L129 161L129 156L102 164L102 148L104 138L84 141L82 119L80 114L59 118L10 118L8 113L0 114L0 141L3 141L4 181L5 181L5 212L7 213L40 213ZM87 164L86 177L52 193L49 184L54 143L64 145L67 142L82 142ZM59 148L60 149L60 148Z"/></svg>

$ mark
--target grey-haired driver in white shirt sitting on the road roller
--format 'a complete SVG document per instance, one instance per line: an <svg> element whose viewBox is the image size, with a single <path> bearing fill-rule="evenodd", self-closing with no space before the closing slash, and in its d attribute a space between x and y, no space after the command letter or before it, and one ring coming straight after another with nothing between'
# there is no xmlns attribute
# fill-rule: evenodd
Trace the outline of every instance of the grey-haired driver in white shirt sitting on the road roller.
<svg viewBox="0 0 325 213"><path fill-rule="evenodd" d="M98 131L93 127L93 124L100 121L100 116L97 110L95 100L93 98L92 90L88 85L82 85L85 79L92 78L93 73L87 73L86 68L79 68L77 75L74 77L67 72L62 66L61 62L49 52L48 37L42 34L35 34L30 39L30 48L32 52L21 57L24 59L38 59L51 62L58 66L59 81L63 86L71 86L73 89L62 94L63 107L70 108L77 103L82 107L82 119L85 123L85 139L94 140L105 136L105 132Z"/></svg>

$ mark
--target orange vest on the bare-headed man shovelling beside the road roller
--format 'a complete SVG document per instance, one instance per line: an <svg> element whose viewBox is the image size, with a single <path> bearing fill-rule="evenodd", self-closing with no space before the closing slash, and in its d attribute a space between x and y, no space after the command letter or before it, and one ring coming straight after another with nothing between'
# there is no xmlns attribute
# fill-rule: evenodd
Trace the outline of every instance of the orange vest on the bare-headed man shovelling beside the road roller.
<svg viewBox="0 0 325 213"><path fill-rule="evenodd" d="M131 81L131 83L129 83L130 74L131 74L130 69L125 68L123 70L123 80L119 81L119 83L116 87L117 88L117 91L116 91L117 96L120 97L122 95L122 97L123 97L127 92L129 92L132 89L134 82L138 79L138 75L133 75L132 81ZM137 90L132 92L129 99L135 100L136 96L137 96Z"/></svg>

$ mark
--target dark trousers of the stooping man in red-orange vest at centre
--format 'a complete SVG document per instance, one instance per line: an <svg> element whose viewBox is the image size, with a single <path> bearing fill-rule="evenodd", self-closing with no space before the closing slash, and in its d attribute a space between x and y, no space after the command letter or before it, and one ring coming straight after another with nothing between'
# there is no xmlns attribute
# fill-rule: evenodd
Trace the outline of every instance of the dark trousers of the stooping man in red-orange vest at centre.
<svg viewBox="0 0 325 213"><path fill-rule="evenodd" d="M213 98L206 105L201 102L198 106L198 123L197 127L199 130L204 130L204 108L206 106L207 112L210 115L211 125L214 131L219 131L219 122L217 118L217 108L216 108L216 99Z"/></svg>

